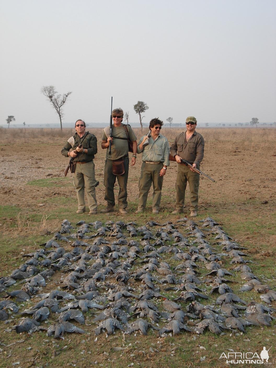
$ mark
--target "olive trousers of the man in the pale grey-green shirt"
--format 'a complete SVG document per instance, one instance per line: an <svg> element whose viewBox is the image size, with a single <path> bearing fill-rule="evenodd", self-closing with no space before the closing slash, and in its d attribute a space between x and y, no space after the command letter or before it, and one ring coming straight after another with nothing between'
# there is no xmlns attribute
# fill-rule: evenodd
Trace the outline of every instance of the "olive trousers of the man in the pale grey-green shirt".
<svg viewBox="0 0 276 368"><path fill-rule="evenodd" d="M160 170L163 167L163 163L142 163L141 177L139 180L139 204L138 210L145 210L146 200L148 199L149 190L151 184L153 187L152 194L152 209L158 209L161 202L161 190L163 185L163 176L160 176Z"/></svg>

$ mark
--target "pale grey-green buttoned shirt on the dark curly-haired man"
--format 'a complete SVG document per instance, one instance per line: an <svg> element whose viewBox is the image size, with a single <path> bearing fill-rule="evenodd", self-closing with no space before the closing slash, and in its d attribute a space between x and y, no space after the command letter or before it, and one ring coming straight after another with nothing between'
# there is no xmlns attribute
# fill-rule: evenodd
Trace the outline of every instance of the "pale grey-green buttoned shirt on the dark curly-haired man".
<svg viewBox="0 0 276 368"><path fill-rule="evenodd" d="M144 137L139 141L142 142ZM149 136L149 144L143 149L137 147L137 153L142 153L142 161L146 162L163 162L163 165L170 166L169 155L170 145L164 135L159 134L158 137L153 141L152 136Z"/></svg>

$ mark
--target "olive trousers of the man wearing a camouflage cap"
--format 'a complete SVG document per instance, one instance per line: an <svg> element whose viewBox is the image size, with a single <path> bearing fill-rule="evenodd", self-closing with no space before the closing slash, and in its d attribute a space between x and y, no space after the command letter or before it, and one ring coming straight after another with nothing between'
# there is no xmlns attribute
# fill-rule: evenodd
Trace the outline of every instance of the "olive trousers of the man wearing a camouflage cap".
<svg viewBox="0 0 276 368"><path fill-rule="evenodd" d="M190 202L191 202L190 211L197 211L199 174L192 172L187 166L183 164L177 165L176 209L183 211L187 181L190 187Z"/></svg>

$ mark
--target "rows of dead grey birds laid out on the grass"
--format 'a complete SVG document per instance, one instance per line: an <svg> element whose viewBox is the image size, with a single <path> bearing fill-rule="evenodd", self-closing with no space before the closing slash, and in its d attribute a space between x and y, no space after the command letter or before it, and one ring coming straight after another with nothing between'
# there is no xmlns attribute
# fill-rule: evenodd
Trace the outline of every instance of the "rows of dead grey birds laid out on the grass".
<svg viewBox="0 0 276 368"><path fill-rule="evenodd" d="M63 338L65 332L91 329L95 335L116 329L146 335L153 329L164 337L270 326L276 291L254 275L246 249L218 223L210 217L199 222L184 217L175 224L150 221L137 227L80 221L74 229L64 220L51 240L24 255L28 261L0 278L0 320L12 325L5 331L46 330ZM57 273L56 289L43 293ZM245 282L239 296L231 289L237 274ZM8 291L15 284L18 290ZM256 301L248 291L256 292ZM92 325L85 325L88 311ZM49 316L55 322L48 327Z"/></svg>

